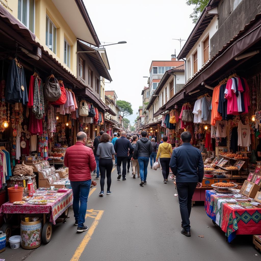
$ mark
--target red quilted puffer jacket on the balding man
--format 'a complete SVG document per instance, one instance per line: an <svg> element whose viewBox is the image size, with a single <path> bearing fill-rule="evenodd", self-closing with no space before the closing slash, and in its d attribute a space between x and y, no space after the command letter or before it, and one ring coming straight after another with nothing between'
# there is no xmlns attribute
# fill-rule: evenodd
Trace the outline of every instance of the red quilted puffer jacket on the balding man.
<svg viewBox="0 0 261 261"><path fill-rule="evenodd" d="M64 165L69 167L70 181L86 181L92 179L91 171L96 168L96 161L92 149L77 141L66 150Z"/></svg>

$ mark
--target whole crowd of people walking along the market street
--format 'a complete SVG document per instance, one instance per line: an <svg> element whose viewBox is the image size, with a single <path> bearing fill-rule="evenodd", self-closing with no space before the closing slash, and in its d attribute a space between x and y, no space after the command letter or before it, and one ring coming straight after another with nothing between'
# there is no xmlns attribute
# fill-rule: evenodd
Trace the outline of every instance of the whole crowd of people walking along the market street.
<svg viewBox="0 0 261 261"><path fill-rule="evenodd" d="M69 180L73 189L73 211L77 232L88 229L84 225L87 199L91 186L91 172L100 179L100 193L111 192L111 172L117 167L117 180L126 181L127 173L132 171L132 178L140 178L140 186L147 184L147 168L159 161L163 182L168 182L170 169L176 176L176 187L181 213L181 233L190 236L189 216L192 196L196 187L202 186L204 173L203 159L200 150L191 145L191 133L181 134L180 147L173 150L168 137L163 136L160 143L156 137L148 137L146 131L140 133L114 133L113 137L104 131L94 139L93 150L85 146L87 136L84 132L77 134L75 145L66 150L64 164L69 167ZM115 161L115 163L113 163ZM104 192L105 177L107 188ZM80 205L79 205L80 203Z"/></svg>

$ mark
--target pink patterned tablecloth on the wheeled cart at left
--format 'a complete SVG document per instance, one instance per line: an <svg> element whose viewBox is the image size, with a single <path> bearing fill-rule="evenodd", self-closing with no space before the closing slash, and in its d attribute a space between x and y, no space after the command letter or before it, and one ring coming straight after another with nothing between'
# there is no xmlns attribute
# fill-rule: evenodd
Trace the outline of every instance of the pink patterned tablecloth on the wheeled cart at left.
<svg viewBox="0 0 261 261"><path fill-rule="evenodd" d="M0 208L0 214L43 214L51 213L50 222L55 225L55 220L73 204L73 192L69 189L54 203L47 205L31 205L27 202L23 205L13 205L13 203L4 203Z"/></svg>

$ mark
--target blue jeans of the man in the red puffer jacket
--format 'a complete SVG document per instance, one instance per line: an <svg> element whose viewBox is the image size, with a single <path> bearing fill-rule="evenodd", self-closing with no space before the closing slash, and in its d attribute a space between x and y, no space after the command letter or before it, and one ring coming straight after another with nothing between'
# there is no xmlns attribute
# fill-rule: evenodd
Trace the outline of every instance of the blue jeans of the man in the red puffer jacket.
<svg viewBox="0 0 261 261"><path fill-rule="evenodd" d="M78 222L79 227L83 227L85 222L87 200L90 192L91 182L91 179L86 181L70 181L73 190L73 213L75 222Z"/></svg>

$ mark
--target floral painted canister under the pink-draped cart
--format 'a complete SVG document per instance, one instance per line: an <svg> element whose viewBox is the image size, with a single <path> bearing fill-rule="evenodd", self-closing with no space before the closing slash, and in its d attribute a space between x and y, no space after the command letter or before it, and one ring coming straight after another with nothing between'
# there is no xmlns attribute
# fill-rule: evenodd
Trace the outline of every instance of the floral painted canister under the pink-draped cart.
<svg viewBox="0 0 261 261"><path fill-rule="evenodd" d="M25 249L37 248L41 245L41 220L25 222L21 220L21 246Z"/></svg>

